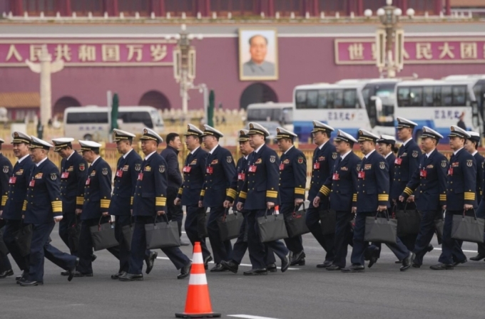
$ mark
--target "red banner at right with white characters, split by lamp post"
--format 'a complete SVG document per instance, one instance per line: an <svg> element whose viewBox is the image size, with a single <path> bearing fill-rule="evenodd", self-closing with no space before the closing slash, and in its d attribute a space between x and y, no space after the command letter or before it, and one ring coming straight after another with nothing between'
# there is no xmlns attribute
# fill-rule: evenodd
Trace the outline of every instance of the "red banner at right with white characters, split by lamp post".
<svg viewBox="0 0 485 319"><path fill-rule="evenodd" d="M335 39L335 64L375 64L374 41ZM404 63L485 63L485 38L404 38Z"/></svg>

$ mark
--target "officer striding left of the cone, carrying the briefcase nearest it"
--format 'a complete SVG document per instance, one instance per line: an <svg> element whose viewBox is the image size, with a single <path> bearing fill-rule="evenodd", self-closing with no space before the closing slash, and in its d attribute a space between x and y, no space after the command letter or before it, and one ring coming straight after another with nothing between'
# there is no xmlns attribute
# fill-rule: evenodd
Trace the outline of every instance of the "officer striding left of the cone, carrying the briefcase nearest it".
<svg viewBox="0 0 485 319"><path fill-rule="evenodd" d="M140 140L145 159L141 165L141 172L138 173L136 191L133 195L135 228L131 241L130 268L128 273L120 276L120 281L143 281L141 271L146 252L145 225L152 224L154 220L162 221L160 216L166 214L167 162L157 152L158 144L163 142L163 139L146 127ZM162 251L170 258L175 268L180 269L178 279L189 276L192 263L180 248L163 248Z"/></svg>

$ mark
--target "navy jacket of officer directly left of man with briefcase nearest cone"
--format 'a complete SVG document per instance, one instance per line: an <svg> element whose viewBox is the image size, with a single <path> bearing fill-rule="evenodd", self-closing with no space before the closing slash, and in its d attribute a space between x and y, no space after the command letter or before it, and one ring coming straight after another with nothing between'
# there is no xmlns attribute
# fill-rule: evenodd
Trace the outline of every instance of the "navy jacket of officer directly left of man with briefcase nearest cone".
<svg viewBox="0 0 485 319"><path fill-rule="evenodd" d="M125 158L120 157L116 164L113 195L108 213L114 216L130 216L133 209L133 194L135 194L136 179L141 172L141 157L131 150Z"/></svg>

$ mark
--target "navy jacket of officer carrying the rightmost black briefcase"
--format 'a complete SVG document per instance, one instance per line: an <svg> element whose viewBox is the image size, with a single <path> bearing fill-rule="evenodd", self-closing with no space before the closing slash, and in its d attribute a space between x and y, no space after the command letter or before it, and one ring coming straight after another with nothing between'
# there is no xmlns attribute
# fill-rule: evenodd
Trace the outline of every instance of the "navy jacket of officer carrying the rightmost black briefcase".
<svg viewBox="0 0 485 319"><path fill-rule="evenodd" d="M464 204L476 208L476 162L464 148L451 155L446 184L446 210L463 211Z"/></svg>

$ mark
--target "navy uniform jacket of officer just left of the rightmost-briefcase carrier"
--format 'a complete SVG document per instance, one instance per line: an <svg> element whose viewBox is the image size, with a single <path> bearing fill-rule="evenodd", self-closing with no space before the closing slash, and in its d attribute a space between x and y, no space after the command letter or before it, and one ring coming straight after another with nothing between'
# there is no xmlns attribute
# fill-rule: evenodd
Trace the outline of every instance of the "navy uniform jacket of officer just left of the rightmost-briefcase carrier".
<svg viewBox="0 0 485 319"><path fill-rule="evenodd" d="M402 197L407 198L419 187L419 199L416 201L420 211L439 211L446 205L446 169L448 160L438 150L419 158L419 167L407 183Z"/></svg>

